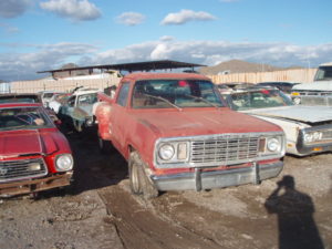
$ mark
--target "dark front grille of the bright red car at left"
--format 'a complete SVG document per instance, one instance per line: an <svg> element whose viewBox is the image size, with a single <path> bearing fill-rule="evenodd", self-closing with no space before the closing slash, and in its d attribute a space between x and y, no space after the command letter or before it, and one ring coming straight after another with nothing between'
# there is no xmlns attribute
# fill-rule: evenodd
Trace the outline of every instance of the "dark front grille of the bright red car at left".
<svg viewBox="0 0 332 249"><path fill-rule="evenodd" d="M0 183L34 178L48 174L48 167L42 158L0 162Z"/></svg>

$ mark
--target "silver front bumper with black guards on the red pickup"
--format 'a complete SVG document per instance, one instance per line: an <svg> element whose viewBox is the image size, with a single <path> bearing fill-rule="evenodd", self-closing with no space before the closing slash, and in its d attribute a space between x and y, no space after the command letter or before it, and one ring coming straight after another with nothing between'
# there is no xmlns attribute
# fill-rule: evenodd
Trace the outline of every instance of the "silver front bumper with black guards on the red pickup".
<svg viewBox="0 0 332 249"><path fill-rule="evenodd" d="M159 190L201 190L224 188L245 184L258 184L263 179L276 177L283 168L283 162L271 164L253 163L251 167L203 172L196 168L193 173L151 176Z"/></svg>

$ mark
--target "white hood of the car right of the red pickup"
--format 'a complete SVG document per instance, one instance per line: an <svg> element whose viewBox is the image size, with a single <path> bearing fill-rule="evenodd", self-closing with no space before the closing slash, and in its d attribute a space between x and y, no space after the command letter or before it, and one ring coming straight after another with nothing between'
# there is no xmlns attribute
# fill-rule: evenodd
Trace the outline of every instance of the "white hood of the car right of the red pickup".
<svg viewBox="0 0 332 249"><path fill-rule="evenodd" d="M243 111L243 113L250 113L259 116L276 117L292 120L303 123L318 123L332 121L332 108L328 106L303 106L291 105L272 108L256 108L250 111Z"/></svg>

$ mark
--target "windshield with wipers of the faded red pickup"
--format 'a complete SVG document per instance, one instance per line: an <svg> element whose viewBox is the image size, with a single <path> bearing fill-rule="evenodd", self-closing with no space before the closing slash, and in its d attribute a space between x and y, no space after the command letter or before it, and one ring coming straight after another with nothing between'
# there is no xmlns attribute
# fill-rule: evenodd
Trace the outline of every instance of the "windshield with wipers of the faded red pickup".
<svg viewBox="0 0 332 249"><path fill-rule="evenodd" d="M224 106L218 90L201 80L148 80L134 86L133 108L183 108Z"/></svg>

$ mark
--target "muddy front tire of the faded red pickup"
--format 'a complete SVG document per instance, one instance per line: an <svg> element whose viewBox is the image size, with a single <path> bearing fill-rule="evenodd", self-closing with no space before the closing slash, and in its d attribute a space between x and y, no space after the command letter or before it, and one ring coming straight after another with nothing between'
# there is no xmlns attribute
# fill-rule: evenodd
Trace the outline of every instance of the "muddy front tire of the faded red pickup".
<svg viewBox="0 0 332 249"><path fill-rule="evenodd" d="M143 195L145 199L152 199L157 197L159 191L147 178L144 167L139 154L132 152L128 160L131 190L134 195Z"/></svg>

